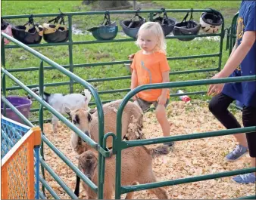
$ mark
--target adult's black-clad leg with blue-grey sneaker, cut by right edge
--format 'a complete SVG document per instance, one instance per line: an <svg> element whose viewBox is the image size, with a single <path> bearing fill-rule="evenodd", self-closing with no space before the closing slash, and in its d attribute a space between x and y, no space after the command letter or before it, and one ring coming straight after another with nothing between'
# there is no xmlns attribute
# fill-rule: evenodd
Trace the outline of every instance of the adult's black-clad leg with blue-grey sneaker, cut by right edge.
<svg viewBox="0 0 256 200"><path fill-rule="evenodd" d="M242 110L242 123L244 127L256 126L256 108L245 106ZM251 156L251 167L255 168L256 158L256 131L246 133L249 154ZM250 174L242 174L233 178L236 183L255 183L255 172Z"/></svg>

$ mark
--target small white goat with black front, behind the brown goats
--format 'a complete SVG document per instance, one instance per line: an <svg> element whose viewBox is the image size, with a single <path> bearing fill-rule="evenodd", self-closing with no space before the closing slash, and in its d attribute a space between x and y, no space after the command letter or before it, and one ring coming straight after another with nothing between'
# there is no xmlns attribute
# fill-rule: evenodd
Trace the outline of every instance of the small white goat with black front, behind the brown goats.
<svg viewBox="0 0 256 200"><path fill-rule="evenodd" d="M39 95L39 87L32 88L31 90ZM88 103L92 95L87 89L84 90L84 94L85 96L82 94L49 94L45 92L44 87L43 99L61 114L66 114L65 105L70 107L70 109L88 109ZM57 131L57 127L58 118L53 115L52 128L54 132Z"/></svg>

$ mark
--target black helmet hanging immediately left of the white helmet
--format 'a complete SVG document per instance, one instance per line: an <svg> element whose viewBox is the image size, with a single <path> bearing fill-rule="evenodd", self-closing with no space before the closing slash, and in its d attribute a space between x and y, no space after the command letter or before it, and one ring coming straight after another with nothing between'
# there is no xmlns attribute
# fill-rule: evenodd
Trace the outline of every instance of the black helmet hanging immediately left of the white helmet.
<svg viewBox="0 0 256 200"><path fill-rule="evenodd" d="M186 21L189 16L189 12L180 23L176 23L173 29L173 35L198 35L200 30L200 24L193 21L193 10L191 10L190 19ZM190 41L194 38L179 38L181 41Z"/></svg>

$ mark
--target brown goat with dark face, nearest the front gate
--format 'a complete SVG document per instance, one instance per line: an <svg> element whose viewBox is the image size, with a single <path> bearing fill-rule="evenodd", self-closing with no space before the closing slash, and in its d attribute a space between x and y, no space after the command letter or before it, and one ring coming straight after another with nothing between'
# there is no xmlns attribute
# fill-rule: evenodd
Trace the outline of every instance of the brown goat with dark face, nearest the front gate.
<svg viewBox="0 0 256 200"><path fill-rule="evenodd" d="M155 174L152 170L152 160L155 156L167 154L170 152L168 146L158 146L155 149L148 149L145 146L136 146L122 151L121 167L121 185L136 185L137 183L156 182ZM95 185L98 185L98 152L89 149L78 156L78 168L85 174ZM116 155L106 158L105 162L105 184L104 198L111 199L115 189L115 165ZM77 181L78 178L78 181ZM80 177L76 177L75 194L79 195ZM90 189L86 183L83 183L89 199L97 198L97 194ZM167 192L163 188L148 189L160 199L167 199ZM133 198L133 192L126 195L126 199Z"/></svg>

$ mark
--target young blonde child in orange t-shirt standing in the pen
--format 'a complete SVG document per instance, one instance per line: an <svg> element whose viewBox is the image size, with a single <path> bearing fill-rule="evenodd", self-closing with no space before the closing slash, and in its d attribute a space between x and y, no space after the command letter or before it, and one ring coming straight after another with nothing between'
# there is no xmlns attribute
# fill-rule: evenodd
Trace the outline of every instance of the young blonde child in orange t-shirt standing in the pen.
<svg viewBox="0 0 256 200"><path fill-rule="evenodd" d="M133 58L131 89L139 85L169 82L170 66L167 62L166 43L161 25L156 22L144 23L139 29L136 45L141 50L130 56L130 59ZM170 124L165 110L169 98L169 89L166 88L141 91L133 97L143 112L146 112L151 104L155 106L155 114L164 137L170 136Z"/></svg>

